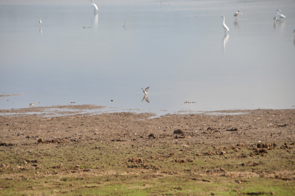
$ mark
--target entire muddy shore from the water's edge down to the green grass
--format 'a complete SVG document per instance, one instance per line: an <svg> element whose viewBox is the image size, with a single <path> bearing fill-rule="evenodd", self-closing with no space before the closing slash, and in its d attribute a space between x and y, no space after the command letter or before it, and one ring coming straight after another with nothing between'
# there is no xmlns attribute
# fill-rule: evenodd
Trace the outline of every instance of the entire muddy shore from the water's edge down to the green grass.
<svg viewBox="0 0 295 196"><path fill-rule="evenodd" d="M294 109L25 114L45 109L0 111L0 195L295 194Z"/></svg>

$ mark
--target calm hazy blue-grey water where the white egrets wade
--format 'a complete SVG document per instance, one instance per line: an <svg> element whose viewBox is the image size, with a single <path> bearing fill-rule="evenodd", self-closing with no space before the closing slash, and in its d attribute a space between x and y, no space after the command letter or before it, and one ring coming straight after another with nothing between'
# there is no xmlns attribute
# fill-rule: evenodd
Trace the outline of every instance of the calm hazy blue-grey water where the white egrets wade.
<svg viewBox="0 0 295 196"><path fill-rule="evenodd" d="M1 109L294 108L295 1L94 3L96 15L89 0L0 0L0 94L22 94ZM277 9L286 19L274 24Z"/></svg>

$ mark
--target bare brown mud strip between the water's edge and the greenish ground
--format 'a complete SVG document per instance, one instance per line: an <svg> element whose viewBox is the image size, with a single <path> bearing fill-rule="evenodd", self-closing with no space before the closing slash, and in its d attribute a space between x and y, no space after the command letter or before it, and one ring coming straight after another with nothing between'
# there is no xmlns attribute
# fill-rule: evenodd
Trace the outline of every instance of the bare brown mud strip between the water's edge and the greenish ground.
<svg viewBox="0 0 295 196"><path fill-rule="evenodd" d="M75 109L75 112L55 111L54 108ZM102 107L75 105L0 110L2 114L0 116L0 141L1 143L27 144L36 143L38 139L46 141L56 137L70 142L69 138L72 139L73 134L76 133L84 138L84 142L89 139L96 140L98 135L103 135L105 141L133 141L136 139L138 142L143 142L156 139L168 142L182 139L183 143L204 142L223 145L236 145L237 143L252 145L258 141L268 144L289 143L295 140L294 109L217 111L219 115L210 113L168 114L157 118L154 118L152 113L130 112L71 115L79 110L97 108ZM49 109L53 109L55 114L64 116L48 117L47 114L25 114ZM221 113L232 115L220 115ZM239 114L235 115L235 113Z"/></svg>

